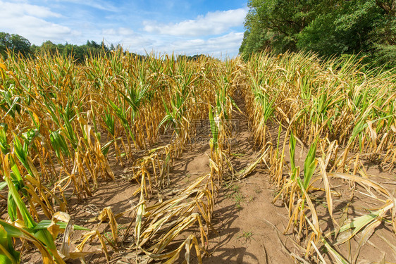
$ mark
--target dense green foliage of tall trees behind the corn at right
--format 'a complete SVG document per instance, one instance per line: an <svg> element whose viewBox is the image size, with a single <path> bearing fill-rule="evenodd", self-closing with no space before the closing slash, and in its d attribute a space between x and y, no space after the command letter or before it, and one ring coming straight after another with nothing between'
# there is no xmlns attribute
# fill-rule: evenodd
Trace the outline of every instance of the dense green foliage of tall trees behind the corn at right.
<svg viewBox="0 0 396 264"><path fill-rule="evenodd" d="M396 64L396 1L249 0L240 54L314 51L361 54L376 65Z"/></svg>

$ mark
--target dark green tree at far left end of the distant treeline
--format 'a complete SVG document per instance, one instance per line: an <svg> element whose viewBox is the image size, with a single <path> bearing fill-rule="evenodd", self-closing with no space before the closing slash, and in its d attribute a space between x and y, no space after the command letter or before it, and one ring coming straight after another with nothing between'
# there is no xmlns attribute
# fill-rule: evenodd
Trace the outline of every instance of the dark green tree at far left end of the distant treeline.
<svg viewBox="0 0 396 264"><path fill-rule="evenodd" d="M18 34L0 32L0 54L4 58L7 57L7 50L23 56L31 54L30 46L32 44L25 37Z"/></svg>

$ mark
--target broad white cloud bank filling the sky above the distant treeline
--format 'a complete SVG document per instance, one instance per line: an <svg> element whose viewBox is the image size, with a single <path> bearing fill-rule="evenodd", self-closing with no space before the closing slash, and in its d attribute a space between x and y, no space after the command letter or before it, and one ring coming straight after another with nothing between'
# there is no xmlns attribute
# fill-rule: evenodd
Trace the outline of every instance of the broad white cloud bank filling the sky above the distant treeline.
<svg viewBox="0 0 396 264"><path fill-rule="evenodd" d="M121 44L125 49L139 54L154 51L236 56L243 33L234 30L242 31L240 27L247 13L247 8L209 12L194 20L167 25L146 21L143 29L134 27L138 24L128 23L129 20L99 18L97 15L102 12L92 8L76 8L80 0L54 1L58 4L44 5L47 0L42 1L41 5L29 4L27 0L0 0L0 31L20 34L38 45L46 40L56 44L66 41L85 44L87 39L96 42L104 39L106 44ZM86 0L81 4L113 9L111 5L106 6L105 1ZM127 15L125 12L125 8L120 8L117 13Z"/></svg>

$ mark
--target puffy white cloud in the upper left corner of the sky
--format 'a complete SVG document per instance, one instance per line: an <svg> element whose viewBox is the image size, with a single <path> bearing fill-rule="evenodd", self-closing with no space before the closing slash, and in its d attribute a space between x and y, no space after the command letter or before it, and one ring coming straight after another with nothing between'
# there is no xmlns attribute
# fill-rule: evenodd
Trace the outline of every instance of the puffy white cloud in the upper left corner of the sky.
<svg viewBox="0 0 396 264"><path fill-rule="evenodd" d="M34 44L47 39L63 40L74 33L69 27L44 20L62 16L47 7L6 1L0 1L0 6L0 25L4 31L20 34Z"/></svg>

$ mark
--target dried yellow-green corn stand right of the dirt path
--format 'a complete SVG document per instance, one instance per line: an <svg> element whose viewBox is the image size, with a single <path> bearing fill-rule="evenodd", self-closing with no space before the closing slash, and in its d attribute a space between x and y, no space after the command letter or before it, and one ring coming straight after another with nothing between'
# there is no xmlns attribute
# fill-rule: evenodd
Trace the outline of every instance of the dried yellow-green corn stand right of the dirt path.
<svg viewBox="0 0 396 264"><path fill-rule="evenodd" d="M310 260L326 261L318 251L323 246L337 263L356 262L381 222L396 231L395 199L362 169L362 159L377 161L388 171L395 167L396 75L360 68L353 57L321 62L310 54L260 54L247 65L248 84L242 91L254 140L261 153L268 153L266 164L277 189L273 202L281 199L289 210L285 232L297 235ZM276 127L277 138L269 132ZM300 156L309 149L304 168L295 161L297 145ZM333 218L332 196L340 194L330 188L332 178L359 184L372 197L377 197L371 191L375 189L385 197L378 200L383 206L339 224ZM338 227L327 234L316 212L318 191L326 193L328 213ZM361 240L354 258L346 260L334 247L357 234Z"/></svg>

